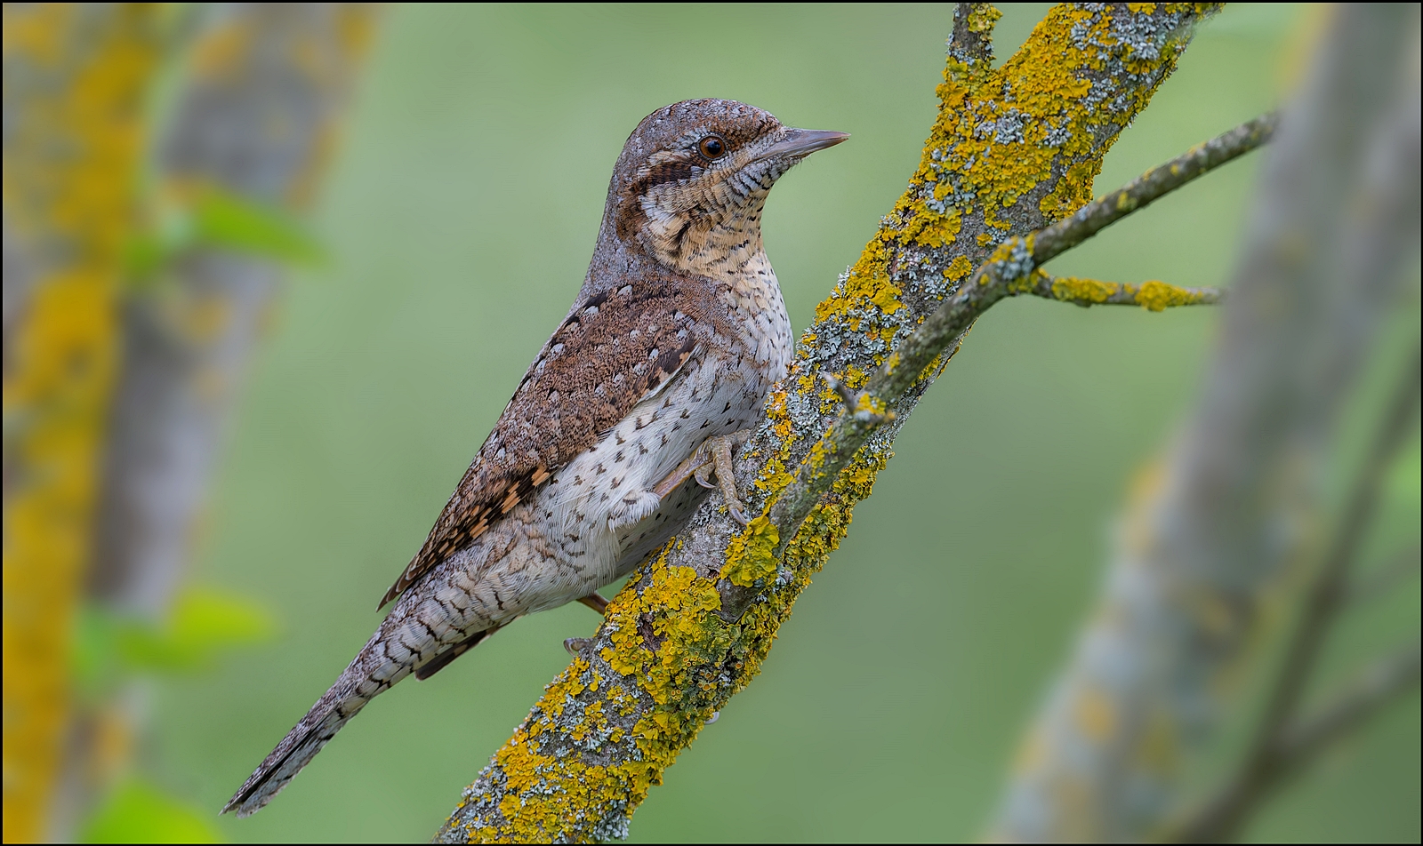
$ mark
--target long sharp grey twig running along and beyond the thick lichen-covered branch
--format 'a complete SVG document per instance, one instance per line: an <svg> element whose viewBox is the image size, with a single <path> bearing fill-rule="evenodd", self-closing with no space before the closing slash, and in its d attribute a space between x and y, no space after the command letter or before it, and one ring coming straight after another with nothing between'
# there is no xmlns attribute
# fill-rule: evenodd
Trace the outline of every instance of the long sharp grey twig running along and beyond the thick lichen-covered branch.
<svg viewBox="0 0 1423 846"><path fill-rule="evenodd" d="M888 409L942 355L952 355L963 333L993 303L1012 296L1015 283L1040 264L1080 245L1121 218L1181 188L1210 171L1264 145L1275 132L1271 112L1201 144L1170 162L1147 171L1118 191L1087 203L1077 213L1026 237L1006 240L942 306L905 338L865 388L859 402L872 411ZM1025 291L1030 293L1030 291ZM881 419L875 419L881 418ZM882 422L881 414L842 414L795 472L795 481L771 508L770 519L783 545L830 491L840 471L865 445Z"/></svg>

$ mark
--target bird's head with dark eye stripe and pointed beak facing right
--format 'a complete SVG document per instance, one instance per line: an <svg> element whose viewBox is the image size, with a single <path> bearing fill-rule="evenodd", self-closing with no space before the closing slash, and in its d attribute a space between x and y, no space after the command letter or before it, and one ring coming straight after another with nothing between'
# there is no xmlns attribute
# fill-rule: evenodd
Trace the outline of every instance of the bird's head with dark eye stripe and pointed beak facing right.
<svg viewBox="0 0 1423 846"><path fill-rule="evenodd" d="M761 250L771 185L844 132L783 127L731 100L689 100L638 124L613 168L605 236L703 274Z"/></svg>

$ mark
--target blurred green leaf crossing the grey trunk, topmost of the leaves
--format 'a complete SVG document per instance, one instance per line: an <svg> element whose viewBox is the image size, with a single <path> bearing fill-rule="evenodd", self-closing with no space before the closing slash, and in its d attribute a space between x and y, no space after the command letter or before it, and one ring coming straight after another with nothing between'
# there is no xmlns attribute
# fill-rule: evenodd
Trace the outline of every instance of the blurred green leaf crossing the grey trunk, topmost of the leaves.
<svg viewBox="0 0 1423 846"><path fill-rule="evenodd" d="M322 245L283 210L218 189L202 192L194 206L194 240L289 264L326 262Z"/></svg>

